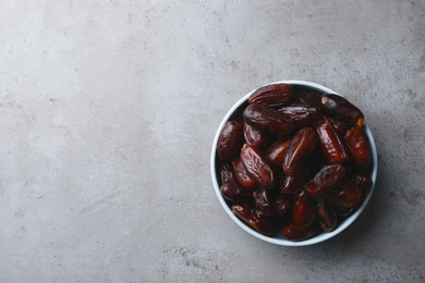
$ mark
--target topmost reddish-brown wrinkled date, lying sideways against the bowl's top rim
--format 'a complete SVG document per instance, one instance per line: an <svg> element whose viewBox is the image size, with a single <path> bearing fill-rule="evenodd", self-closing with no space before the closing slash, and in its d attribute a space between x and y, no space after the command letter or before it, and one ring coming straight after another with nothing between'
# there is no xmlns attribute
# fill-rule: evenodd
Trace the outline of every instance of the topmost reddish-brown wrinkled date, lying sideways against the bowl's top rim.
<svg viewBox="0 0 425 283"><path fill-rule="evenodd" d="M274 84L263 86L248 98L251 104L282 106L290 103L294 98L292 85Z"/></svg>

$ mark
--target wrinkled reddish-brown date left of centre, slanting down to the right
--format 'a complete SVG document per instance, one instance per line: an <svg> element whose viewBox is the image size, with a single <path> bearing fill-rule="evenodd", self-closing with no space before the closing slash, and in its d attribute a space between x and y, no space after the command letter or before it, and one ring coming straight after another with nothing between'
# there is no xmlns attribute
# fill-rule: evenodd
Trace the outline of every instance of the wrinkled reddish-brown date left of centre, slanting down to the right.
<svg viewBox="0 0 425 283"><path fill-rule="evenodd" d="M245 144L241 151L241 160L260 187L270 188L275 184L275 173L259 147Z"/></svg>

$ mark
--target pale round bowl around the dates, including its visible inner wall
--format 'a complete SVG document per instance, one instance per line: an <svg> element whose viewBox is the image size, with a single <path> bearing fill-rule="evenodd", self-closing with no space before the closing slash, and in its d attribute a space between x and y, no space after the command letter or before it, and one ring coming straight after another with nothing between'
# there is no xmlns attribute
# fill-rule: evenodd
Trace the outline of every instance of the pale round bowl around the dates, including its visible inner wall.
<svg viewBox="0 0 425 283"><path fill-rule="evenodd" d="M271 84L279 84L279 83L284 83L284 84L290 84L293 86L294 91L296 89L303 89L303 90L316 90L320 94L336 94L339 95L337 91L327 88L325 86L311 83L311 82L305 82L305 81L280 81L280 82L275 82ZM270 85L270 84L268 84ZM250 225L244 223L242 220L240 220L231 210L230 204L223 198L223 196L220 193L220 172L219 172L219 165L220 165L220 160L217 155L217 142L219 138L219 135L226 124L229 120L242 120L242 113L246 106L248 104L247 100L250 96L255 91L256 89L252 90L244 97L242 97L230 110L229 112L224 115L222 119L217 133L214 138L212 143L212 148L211 148L211 157L210 157L210 170L211 170L211 179L212 179L212 185L216 192L216 195L218 197L219 202L221 204L222 208L224 211L228 213L228 216L235 222L241 229L243 229L245 232L251 234L252 236L259 238L264 242L276 244L276 245L281 245L281 246L308 246L308 245L314 245L321 243L324 241L327 241L329 238L335 237L336 235L340 234L342 231L344 231L348 226L350 226L359 217L360 214L364 211L365 207L367 206L371 196L374 192L375 188L375 183L376 183L376 177L377 177L377 170L378 170L378 157L377 157L377 150L376 150L376 145L375 145L375 139L374 136L371 132L371 128L367 126L367 124L364 125L364 131L369 139L369 150L371 150L371 164L369 164L369 176L372 180L372 188L368 190L367 195L364 197L362 204L356 208L355 212L353 212L351 216L348 218L343 219L341 222L338 223L338 226L331 231L331 232L321 232L320 234L304 239L304 241L290 241L278 231L271 236L266 236L264 234L258 233L254 229L252 229ZM341 95L339 95L341 96ZM367 118L366 118L367 122Z"/></svg>

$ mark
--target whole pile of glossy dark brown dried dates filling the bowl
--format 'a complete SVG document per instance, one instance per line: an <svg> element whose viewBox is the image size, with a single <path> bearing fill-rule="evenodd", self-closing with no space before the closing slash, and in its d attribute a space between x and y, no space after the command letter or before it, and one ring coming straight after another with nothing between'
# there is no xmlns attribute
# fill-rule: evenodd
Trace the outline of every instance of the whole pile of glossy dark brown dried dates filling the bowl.
<svg viewBox="0 0 425 283"><path fill-rule="evenodd" d="M260 87L245 106L217 144L232 212L290 241L333 231L373 185L363 113L341 96L289 84Z"/></svg>

